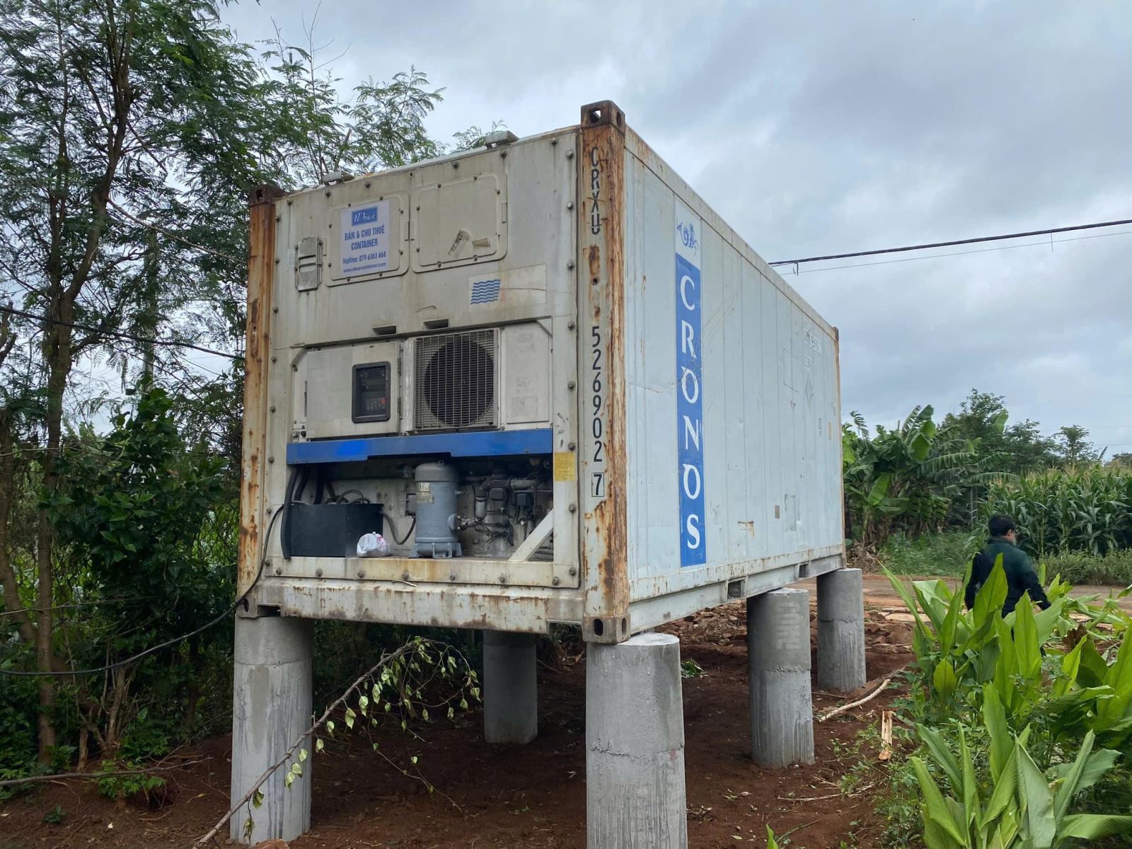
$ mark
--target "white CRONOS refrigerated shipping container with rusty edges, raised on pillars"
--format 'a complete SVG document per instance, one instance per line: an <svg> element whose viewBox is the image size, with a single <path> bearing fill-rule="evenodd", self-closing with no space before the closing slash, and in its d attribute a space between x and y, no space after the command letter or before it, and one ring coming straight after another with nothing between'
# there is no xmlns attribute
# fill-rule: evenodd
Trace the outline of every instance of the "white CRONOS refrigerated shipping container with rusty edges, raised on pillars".
<svg viewBox="0 0 1132 849"><path fill-rule="evenodd" d="M251 238L241 584L292 473L383 504L394 544L285 558L273 533L256 603L615 642L841 565L837 332L612 103L257 190ZM409 556L436 460L461 557Z"/></svg>

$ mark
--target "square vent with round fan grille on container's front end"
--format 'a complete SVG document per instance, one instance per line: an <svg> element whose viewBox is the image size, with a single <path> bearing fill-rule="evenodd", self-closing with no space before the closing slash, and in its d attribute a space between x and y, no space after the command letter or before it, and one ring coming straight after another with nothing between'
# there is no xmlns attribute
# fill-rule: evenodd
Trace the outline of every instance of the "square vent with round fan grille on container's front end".
<svg viewBox="0 0 1132 849"><path fill-rule="evenodd" d="M413 421L417 430L468 430L497 423L498 332L471 331L417 340Z"/></svg>

